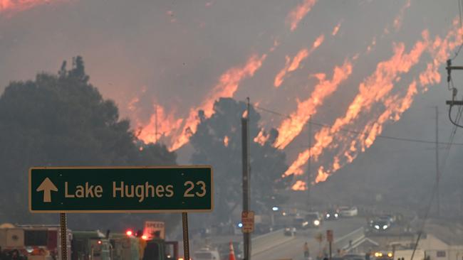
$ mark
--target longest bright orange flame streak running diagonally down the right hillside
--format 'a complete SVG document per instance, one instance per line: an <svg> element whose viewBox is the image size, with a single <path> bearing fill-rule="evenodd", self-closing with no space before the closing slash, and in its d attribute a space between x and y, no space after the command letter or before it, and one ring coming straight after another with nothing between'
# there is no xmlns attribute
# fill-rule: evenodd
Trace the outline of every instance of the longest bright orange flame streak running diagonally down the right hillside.
<svg viewBox="0 0 463 260"><path fill-rule="evenodd" d="M422 35L426 39L427 31L423 31ZM343 126L357 119L360 112L368 112L375 102L385 99L387 94L394 87L394 82L400 79L400 75L408 72L412 66L418 63L425 48L427 48L427 42L425 40L417 41L412 50L410 50L410 53L405 53L405 45L403 43L395 44L392 58L378 63L373 75L370 75L370 77L360 83L359 93L348 107L345 116L336 119L330 129L321 129L321 131L316 133L316 143L310 148L311 156L317 160L324 149L331 145L335 138L335 134L337 134ZM308 150L299 153L296 161L291 164L284 174L291 175L301 172L301 166L306 163L308 156ZM323 173L328 174L326 171L323 171ZM325 176L324 174L321 175ZM318 179L323 178L320 177Z"/></svg>

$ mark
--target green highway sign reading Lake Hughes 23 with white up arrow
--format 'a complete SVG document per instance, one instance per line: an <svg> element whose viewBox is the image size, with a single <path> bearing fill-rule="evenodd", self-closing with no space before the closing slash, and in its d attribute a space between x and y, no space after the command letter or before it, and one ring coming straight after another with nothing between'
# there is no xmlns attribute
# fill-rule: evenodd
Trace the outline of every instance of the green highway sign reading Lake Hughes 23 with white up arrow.
<svg viewBox="0 0 463 260"><path fill-rule="evenodd" d="M210 166L34 167L29 210L52 212L211 212Z"/></svg>

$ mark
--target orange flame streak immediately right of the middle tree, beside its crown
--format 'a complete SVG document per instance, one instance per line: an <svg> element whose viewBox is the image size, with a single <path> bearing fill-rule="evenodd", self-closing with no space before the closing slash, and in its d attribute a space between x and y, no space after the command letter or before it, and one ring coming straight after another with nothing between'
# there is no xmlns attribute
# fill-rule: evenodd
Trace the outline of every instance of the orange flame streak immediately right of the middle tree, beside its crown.
<svg viewBox="0 0 463 260"><path fill-rule="evenodd" d="M278 128L279 136L274 146L283 149L291 143L301 133L309 117L315 114L316 109L323 104L323 100L333 94L340 83L346 80L351 73L352 64L346 60L342 66L334 68L331 80L326 80L324 74L315 75L319 81L318 85L313 90L311 97L303 102L298 102L298 107L295 112L291 113L291 117L281 122Z"/></svg>

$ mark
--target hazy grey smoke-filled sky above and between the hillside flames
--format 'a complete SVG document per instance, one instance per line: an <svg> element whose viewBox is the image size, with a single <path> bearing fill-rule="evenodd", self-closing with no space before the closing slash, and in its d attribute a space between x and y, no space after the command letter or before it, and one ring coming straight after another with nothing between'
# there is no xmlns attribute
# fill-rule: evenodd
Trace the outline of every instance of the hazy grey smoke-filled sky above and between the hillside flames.
<svg viewBox="0 0 463 260"><path fill-rule="evenodd" d="M42 71L56 72L63 60L82 55L90 82L104 97L117 102L120 114L132 119L135 128L135 119L147 124L154 104L175 112L176 117L187 117L189 109L203 101L222 73L244 65L251 55L266 54L261 68L253 77L241 81L234 97L250 97L251 102L259 102L262 107L290 114L297 100L307 99L316 85L310 75L326 73L331 78L335 65L358 55L353 74L326 99L314 117L332 124L345 113L358 93L359 83L375 71L378 62L392 56L394 44L405 43L406 51L410 51L422 39L423 30L429 30L432 39L442 37L458 17L457 1L411 1L410 8L400 16L406 1L320 0L298 28L290 31L287 15L298 4L301 1L58 0L26 11L0 13L0 91L13 80L33 79ZM402 18L398 29L393 26L397 16ZM331 36L338 23L338 34ZM323 44L276 89L274 77L284 67L285 56L292 58L302 48L310 48L322 34ZM376 44L367 53L373 40ZM402 76L399 88L405 89L425 68L429 55L422 60ZM461 58L455 63L459 61L463 63ZM438 105L442 111L439 130L442 141L446 141L452 127L444 100L450 94L443 67L439 72L442 82L417 95L399 122L387 124L385 135L434 139L432 106ZM454 75L454 80L463 82L463 77ZM135 111L130 111L128 104L135 97L140 101ZM275 127L282 120L262 113L263 126ZM293 141L306 142L305 134ZM378 139L358 163L377 165L382 168L378 174L389 173L385 169L390 165L397 175L432 174L432 155L427 148ZM287 152L288 158L294 158L298 150ZM422 158L428 156L431 159L423 163ZM422 161L422 165L416 166L420 163L413 160ZM454 153L449 165L452 160L457 160ZM348 170L355 170L352 167Z"/></svg>

